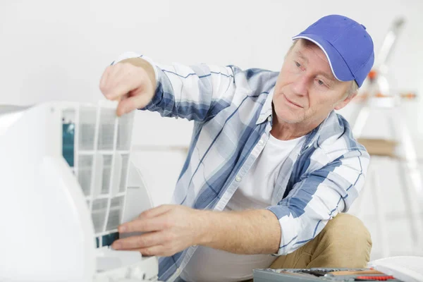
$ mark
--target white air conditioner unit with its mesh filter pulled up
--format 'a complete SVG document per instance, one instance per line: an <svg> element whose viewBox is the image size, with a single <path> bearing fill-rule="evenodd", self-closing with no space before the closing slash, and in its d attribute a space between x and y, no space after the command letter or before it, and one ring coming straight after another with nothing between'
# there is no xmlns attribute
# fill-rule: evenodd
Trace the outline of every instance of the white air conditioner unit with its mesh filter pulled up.
<svg viewBox="0 0 423 282"><path fill-rule="evenodd" d="M0 106L0 281L156 281L157 257L112 250L152 207L116 104Z"/></svg>

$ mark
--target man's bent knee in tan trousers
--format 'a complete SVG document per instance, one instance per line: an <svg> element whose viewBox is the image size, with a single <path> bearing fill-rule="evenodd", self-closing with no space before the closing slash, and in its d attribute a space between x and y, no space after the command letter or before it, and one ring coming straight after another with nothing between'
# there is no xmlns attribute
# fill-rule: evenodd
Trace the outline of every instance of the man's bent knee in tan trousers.
<svg viewBox="0 0 423 282"><path fill-rule="evenodd" d="M319 233L307 267L364 267L369 262L372 238L360 219L338 214Z"/></svg>

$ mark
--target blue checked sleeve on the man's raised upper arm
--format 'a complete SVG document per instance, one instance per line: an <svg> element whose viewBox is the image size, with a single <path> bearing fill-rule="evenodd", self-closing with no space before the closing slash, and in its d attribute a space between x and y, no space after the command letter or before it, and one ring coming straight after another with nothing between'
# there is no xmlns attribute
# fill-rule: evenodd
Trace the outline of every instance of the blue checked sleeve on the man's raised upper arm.
<svg viewBox="0 0 423 282"><path fill-rule="evenodd" d="M122 54L112 64L123 59L140 57L154 68L157 89L152 102L141 110L158 111L161 116L207 121L231 105L235 95L235 66L199 64L165 66L140 54Z"/></svg>

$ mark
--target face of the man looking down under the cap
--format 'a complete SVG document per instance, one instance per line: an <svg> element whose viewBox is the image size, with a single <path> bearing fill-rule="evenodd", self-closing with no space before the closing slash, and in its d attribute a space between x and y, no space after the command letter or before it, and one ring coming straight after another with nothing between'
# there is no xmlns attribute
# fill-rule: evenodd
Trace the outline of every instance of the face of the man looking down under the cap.
<svg viewBox="0 0 423 282"><path fill-rule="evenodd" d="M321 123L333 109L350 102L345 93L351 82L333 77L324 52L311 42L295 44L283 62L274 90L278 122Z"/></svg>

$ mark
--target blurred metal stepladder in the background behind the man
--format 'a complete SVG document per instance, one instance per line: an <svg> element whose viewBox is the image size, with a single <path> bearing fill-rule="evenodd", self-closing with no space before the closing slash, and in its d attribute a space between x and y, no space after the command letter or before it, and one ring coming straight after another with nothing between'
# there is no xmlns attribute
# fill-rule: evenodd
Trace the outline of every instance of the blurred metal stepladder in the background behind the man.
<svg viewBox="0 0 423 282"><path fill-rule="evenodd" d="M384 39L384 42L377 57L375 68L369 73L367 84L362 87L361 92L364 94L365 102L362 103L358 110L355 121L351 123L354 137L359 139L362 131L367 124L369 115L374 110L382 111L386 116L389 129L401 148L401 158L396 158L398 164L398 172L403 196L405 198L406 213L410 217L410 232L411 240L415 245L415 254L422 255L423 250L423 219L420 217L423 211L423 184L422 176L419 171L419 164L417 161L417 154L410 130L407 128L405 118L400 111L400 95L391 94L389 91L389 84L386 78L388 73L388 61L393 53L393 47L397 42L400 30L403 28L404 20L402 18L394 21L390 30ZM369 151L369 154L372 154ZM380 154L379 154L380 155ZM386 154L385 157L392 157ZM372 198L374 199L374 207L376 212L376 220L379 229L379 240L382 246L382 255L384 257L390 256L390 246L388 245L388 233L386 230L386 217L384 208L381 202L381 195L384 192L380 185L380 169L379 165L371 162L369 166L369 178L372 180ZM412 189L410 189L412 188ZM413 198L415 197L415 198ZM415 201L415 199L417 201ZM362 204L359 200L359 205ZM364 210L364 207L360 207ZM360 217L360 216L359 216Z"/></svg>

